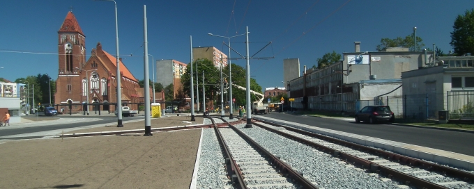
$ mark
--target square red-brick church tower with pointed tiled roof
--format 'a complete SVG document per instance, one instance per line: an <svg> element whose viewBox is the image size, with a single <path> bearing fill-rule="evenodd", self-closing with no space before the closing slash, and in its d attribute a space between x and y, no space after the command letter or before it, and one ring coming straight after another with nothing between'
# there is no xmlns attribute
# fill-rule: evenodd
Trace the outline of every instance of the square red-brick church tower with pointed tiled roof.
<svg viewBox="0 0 474 189"><path fill-rule="evenodd" d="M86 36L72 11L68 12L58 31L58 54L54 104L79 104L82 101L80 69L86 63Z"/></svg>

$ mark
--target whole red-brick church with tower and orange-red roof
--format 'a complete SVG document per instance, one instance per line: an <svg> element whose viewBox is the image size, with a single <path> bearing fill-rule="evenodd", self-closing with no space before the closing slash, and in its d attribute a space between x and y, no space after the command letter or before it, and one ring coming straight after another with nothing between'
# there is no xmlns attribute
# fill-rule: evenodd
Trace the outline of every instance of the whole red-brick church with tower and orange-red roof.
<svg viewBox="0 0 474 189"><path fill-rule="evenodd" d="M116 103L116 56L102 49L100 42L91 51L91 57L86 61L86 36L77 23L77 19L68 12L66 19L58 31L59 70L56 80L54 104L72 104L72 111L86 110L81 106L100 103L100 110L114 111ZM121 97L123 106L130 103L142 102L144 89L139 87L138 80L123 64L120 58ZM89 93L89 99L87 99ZM130 104L131 109L137 110L137 104ZM89 111L98 106L89 106ZM61 106L68 111L68 106Z"/></svg>

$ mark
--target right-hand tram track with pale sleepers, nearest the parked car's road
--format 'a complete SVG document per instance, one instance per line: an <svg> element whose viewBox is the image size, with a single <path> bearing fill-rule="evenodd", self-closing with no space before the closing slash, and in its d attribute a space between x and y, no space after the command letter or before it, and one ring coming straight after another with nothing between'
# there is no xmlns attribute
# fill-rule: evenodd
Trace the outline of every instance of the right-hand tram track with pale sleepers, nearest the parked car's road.
<svg viewBox="0 0 474 189"><path fill-rule="evenodd" d="M303 131L291 126L258 119L253 121L252 124L263 129L302 142L340 158L346 163L374 172L387 179L399 181L406 186L415 186L416 188L474 188L472 183L474 174L470 172Z"/></svg>

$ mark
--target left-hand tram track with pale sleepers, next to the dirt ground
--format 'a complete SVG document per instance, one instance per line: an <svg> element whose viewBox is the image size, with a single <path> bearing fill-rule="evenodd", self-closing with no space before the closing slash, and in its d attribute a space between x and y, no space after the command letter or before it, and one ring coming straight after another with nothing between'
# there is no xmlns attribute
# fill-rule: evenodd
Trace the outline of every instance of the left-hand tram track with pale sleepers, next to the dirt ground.
<svg viewBox="0 0 474 189"><path fill-rule="evenodd" d="M220 118L211 118L213 123L214 119ZM228 124L228 128L214 127L227 174L236 188L317 188L234 126L244 123L240 120Z"/></svg>

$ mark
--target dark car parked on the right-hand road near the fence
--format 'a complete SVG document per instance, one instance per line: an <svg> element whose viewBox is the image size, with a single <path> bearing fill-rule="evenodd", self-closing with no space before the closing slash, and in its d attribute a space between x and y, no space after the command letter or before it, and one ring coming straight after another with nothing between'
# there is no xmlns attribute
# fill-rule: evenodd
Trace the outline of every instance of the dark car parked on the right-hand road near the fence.
<svg viewBox="0 0 474 189"><path fill-rule="evenodd" d="M355 122L369 122L374 124L376 122L393 122L395 115L389 106L365 106L362 110L355 113Z"/></svg>

